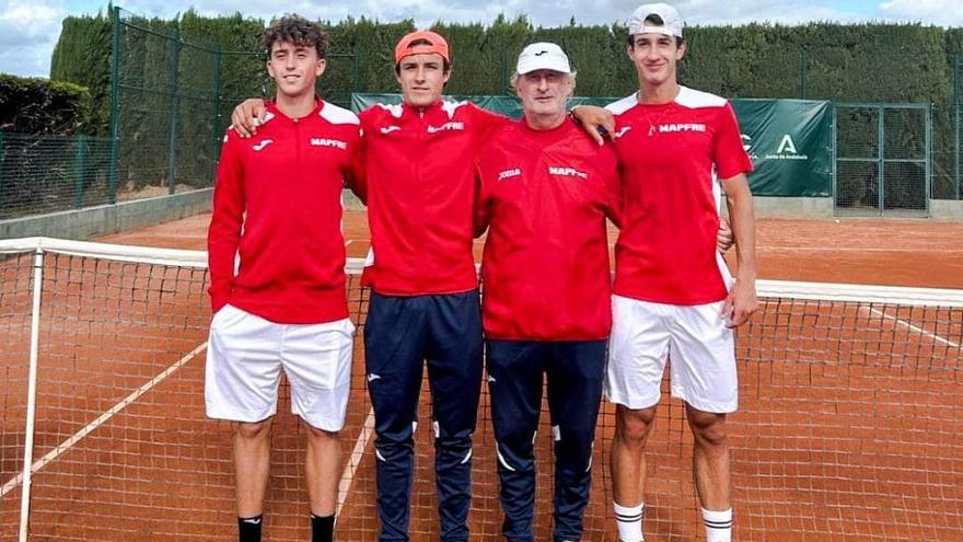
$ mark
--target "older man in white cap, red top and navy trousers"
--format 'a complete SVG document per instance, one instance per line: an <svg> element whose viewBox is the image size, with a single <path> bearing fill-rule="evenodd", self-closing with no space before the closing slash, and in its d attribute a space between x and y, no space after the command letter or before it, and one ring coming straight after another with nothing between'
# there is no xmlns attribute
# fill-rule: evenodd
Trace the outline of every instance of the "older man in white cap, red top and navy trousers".
<svg viewBox="0 0 963 542"><path fill-rule="evenodd" d="M618 169L566 115L576 73L555 44L532 44L513 76L524 118L480 149L476 230L502 534L532 542L534 440L543 379L555 442L556 542L577 541L612 325L605 219L618 221ZM542 540L542 539L539 539Z"/></svg>

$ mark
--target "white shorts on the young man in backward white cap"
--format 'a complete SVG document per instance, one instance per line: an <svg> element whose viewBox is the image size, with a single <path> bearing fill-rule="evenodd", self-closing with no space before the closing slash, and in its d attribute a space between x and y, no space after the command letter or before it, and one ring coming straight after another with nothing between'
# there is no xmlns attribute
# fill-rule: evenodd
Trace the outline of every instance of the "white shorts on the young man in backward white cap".
<svg viewBox="0 0 963 542"><path fill-rule="evenodd" d="M735 343L722 304L673 305L613 296L608 401L634 410L659 404L671 357L672 396L703 412L735 412Z"/></svg>

